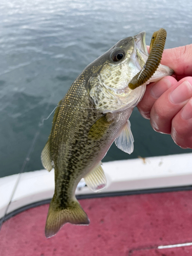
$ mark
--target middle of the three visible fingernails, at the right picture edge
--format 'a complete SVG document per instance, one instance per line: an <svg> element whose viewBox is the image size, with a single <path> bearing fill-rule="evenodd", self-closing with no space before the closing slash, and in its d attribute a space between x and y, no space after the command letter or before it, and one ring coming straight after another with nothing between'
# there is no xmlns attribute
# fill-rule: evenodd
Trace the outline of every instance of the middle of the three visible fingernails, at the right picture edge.
<svg viewBox="0 0 192 256"><path fill-rule="evenodd" d="M192 96L192 86L185 80L173 92L170 93L170 100L179 104Z"/></svg>

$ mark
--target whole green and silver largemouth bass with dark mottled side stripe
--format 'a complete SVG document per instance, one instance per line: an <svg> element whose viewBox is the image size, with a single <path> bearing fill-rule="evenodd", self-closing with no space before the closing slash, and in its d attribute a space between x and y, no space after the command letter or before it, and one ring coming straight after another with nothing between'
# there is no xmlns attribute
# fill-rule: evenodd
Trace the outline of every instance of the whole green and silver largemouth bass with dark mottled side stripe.
<svg viewBox="0 0 192 256"><path fill-rule="evenodd" d="M55 172L55 191L45 228L47 238L65 223L90 223L75 197L77 184L84 178L93 191L106 186L102 158L114 141L120 150L133 152L129 117L134 107L142 99L147 83L173 73L159 65L142 86L129 88L129 82L148 58L145 35L143 31L118 41L78 75L58 103L41 153L42 165Z"/></svg>

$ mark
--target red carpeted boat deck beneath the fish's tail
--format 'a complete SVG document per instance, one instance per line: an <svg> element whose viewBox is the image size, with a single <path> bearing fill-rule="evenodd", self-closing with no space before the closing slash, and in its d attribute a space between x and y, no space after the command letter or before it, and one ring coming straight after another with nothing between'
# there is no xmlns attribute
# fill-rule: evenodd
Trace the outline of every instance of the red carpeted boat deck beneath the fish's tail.
<svg viewBox="0 0 192 256"><path fill-rule="evenodd" d="M183 256L192 246L192 191L79 201L89 226L66 224L46 239L49 205L26 210L3 224L1 256Z"/></svg>

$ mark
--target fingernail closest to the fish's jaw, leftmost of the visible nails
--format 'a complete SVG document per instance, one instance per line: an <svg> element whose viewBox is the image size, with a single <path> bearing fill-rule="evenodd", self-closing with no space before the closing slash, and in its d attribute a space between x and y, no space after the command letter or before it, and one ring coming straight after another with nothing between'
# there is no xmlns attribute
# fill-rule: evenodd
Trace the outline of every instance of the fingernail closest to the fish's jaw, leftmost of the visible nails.
<svg viewBox="0 0 192 256"><path fill-rule="evenodd" d="M166 78L163 78L160 80L160 82L155 83L151 88L151 95L154 98L159 98L170 87L172 87L170 81Z"/></svg>

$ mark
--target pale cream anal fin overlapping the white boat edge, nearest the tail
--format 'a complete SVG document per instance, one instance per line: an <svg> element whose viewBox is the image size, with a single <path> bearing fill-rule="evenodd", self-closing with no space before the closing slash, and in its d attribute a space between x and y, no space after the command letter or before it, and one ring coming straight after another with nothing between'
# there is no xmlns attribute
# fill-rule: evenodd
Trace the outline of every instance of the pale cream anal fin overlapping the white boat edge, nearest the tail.
<svg viewBox="0 0 192 256"><path fill-rule="evenodd" d="M84 181L87 186L94 192L98 192L106 186L106 177L101 167L101 162L89 172L85 177Z"/></svg>

